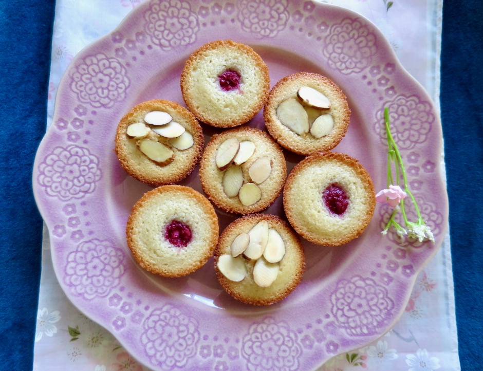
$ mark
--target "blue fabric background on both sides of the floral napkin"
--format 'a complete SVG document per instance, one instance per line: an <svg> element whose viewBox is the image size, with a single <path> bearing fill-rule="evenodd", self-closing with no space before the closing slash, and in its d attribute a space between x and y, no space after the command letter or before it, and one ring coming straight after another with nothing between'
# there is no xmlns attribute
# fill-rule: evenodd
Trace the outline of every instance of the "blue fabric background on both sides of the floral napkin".
<svg viewBox="0 0 483 371"><path fill-rule="evenodd" d="M483 367L483 6L443 8L441 118L463 370ZM32 369L42 220L32 164L47 115L53 1L0 2L0 368Z"/></svg>

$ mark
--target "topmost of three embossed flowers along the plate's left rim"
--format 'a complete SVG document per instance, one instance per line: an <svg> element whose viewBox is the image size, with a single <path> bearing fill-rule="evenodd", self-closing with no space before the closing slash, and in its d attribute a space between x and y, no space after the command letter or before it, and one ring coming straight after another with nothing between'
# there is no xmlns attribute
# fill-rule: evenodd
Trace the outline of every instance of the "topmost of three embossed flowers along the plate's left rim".
<svg viewBox="0 0 483 371"><path fill-rule="evenodd" d="M102 53L84 58L72 69L70 78L70 87L79 100L93 107L112 107L125 98L129 86L124 66Z"/></svg>

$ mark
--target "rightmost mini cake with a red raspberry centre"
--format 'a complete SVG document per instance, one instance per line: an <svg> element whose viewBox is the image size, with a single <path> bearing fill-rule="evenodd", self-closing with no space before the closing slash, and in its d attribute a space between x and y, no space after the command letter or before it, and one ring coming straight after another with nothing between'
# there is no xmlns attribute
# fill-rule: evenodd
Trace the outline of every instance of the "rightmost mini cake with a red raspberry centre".
<svg viewBox="0 0 483 371"><path fill-rule="evenodd" d="M318 245L339 246L367 227L376 196L359 161L326 152L295 165L285 183L283 202L290 224L302 237Z"/></svg>

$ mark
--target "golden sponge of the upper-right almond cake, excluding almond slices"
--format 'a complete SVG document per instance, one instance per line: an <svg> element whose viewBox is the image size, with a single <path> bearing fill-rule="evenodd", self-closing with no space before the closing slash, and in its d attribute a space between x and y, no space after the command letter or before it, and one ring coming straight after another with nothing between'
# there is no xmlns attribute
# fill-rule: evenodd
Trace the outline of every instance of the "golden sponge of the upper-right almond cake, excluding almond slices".
<svg viewBox="0 0 483 371"><path fill-rule="evenodd" d="M277 107L289 98L298 99L297 91L302 86L322 92L331 103L330 109L321 110L321 113L332 116L333 128L329 134L321 138L316 138L311 133L296 134L277 117ZM317 73L298 72L284 77L270 90L264 107L264 120L269 134L287 150L301 155L333 149L345 136L349 119L350 109L340 87Z"/></svg>

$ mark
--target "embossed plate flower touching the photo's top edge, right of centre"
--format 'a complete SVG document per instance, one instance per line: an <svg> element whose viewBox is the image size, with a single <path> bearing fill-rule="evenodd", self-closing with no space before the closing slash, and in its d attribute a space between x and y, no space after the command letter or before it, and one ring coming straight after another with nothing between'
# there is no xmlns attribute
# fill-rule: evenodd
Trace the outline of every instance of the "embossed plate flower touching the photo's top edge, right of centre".
<svg viewBox="0 0 483 371"><path fill-rule="evenodd" d="M237 2L238 20L244 31L273 38L287 26L289 19L286 0L242 0Z"/></svg>

